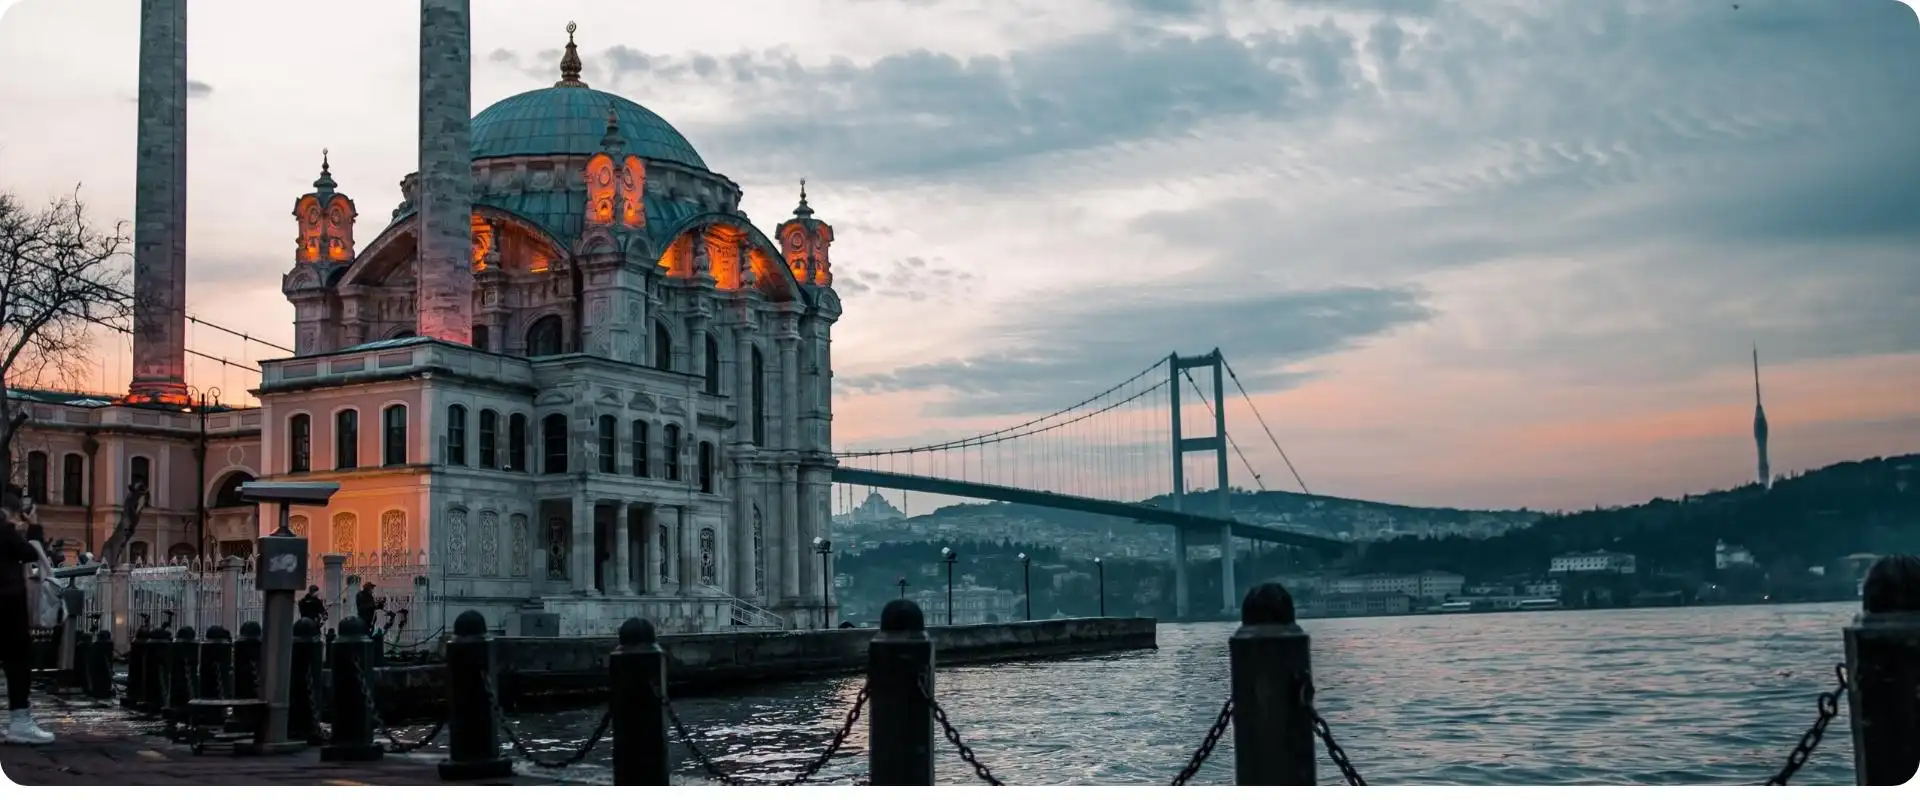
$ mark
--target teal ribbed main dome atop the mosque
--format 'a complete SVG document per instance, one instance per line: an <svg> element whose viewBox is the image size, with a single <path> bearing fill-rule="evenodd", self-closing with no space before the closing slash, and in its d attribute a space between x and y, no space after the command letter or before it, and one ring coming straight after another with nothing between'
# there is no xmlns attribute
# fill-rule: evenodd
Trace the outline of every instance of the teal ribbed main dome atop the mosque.
<svg viewBox="0 0 1920 800"><path fill-rule="evenodd" d="M488 106L472 121L472 157L597 153L609 107L620 121L628 153L707 169L701 153L660 115L586 86L536 88Z"/></svg>

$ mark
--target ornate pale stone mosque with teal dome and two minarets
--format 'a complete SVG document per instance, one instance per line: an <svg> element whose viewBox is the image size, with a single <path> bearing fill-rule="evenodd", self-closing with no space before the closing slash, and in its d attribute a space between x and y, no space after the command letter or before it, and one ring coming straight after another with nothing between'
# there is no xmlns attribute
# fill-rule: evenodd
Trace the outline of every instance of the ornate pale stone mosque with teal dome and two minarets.
<svg viewBox="0 0 1920 800"><path fill-rule="evenodd" d="M184 224L167 226L184 219L184 6L142 0L129 395L21 395L52 537L98 549L140 482L125 558L250 554L273 520L240 483L336 482L294 531L355 566L424 553L447 620L833 622L812 541L841 305L804 182L766 236L672 125L580 79L572 25L551 86L468 119L468 2L424 0L419 173L359 236L323 157L280 282L294 355L259 363L257 409L209 409L180 378Z"/></svg>

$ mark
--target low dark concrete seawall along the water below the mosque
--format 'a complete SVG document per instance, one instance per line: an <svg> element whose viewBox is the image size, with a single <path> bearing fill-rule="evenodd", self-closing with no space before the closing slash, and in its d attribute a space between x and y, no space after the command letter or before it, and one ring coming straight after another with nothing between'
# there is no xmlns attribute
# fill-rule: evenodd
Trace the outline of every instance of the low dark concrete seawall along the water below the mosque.
<svg viewBox="0 0 1920 800"><path fill-rule="evenodd" d="M828 631L741 631L662 635L672 694L712 693L741 683L797 681L866 670L866 645L874 627ZM1089 656L1150 650L1156 620L1073 618L987 625L927 627L935 664L987 664L1031 658ZM607 691L607 656L612 637L495 637L501 702L538 708L589 702ZM382 714L432 718L445 704L442 666L380 670Z"/></svg>

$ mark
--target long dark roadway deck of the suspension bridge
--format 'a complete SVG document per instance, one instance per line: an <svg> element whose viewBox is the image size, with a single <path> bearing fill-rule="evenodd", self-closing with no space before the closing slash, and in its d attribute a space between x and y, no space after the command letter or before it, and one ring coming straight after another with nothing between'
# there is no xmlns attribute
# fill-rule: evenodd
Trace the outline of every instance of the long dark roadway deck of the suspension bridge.
<svg viewBox="0 0 1920 800"><path fill-rule="evenodd" d="M1210 514L1192 514L1183 510L1158 508L1142 503L1102 501L1094 497L1062 495L1056 491L1018 489L1012 485L975 483L950 478L922 478L922 476L908 476L902 472L860 470L852 466L835 466L833 482L872 485L879 489L925 491L929 495L972 497L979 501L1077 510L1085 514L1121 516L1127 520L1146 522L1150 526L1217 529L1221 524L1227 524L1231 526L1231 533L1242 539L1271 541L1288 547L1306 547L1331 554L1346 551L1346 543L1338 539L1327 539L1281 528L1256 526L1240 520L1221 520Z"/></svg>

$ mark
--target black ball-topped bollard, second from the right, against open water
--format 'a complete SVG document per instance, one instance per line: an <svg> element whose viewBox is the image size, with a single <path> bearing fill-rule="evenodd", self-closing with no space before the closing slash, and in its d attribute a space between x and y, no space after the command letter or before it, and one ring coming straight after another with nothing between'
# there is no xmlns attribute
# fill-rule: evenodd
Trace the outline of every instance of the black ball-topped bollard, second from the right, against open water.
<svg viewBox="0 0 1920 800"><path fill-rule="evenodd" d="M1309 648L1286 587L1261 583L1246 593L1240 629L1227 641L1235 785L1313 785L1313 721L1302 704Z"/></svg>

